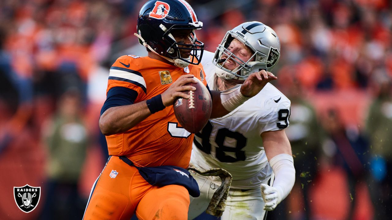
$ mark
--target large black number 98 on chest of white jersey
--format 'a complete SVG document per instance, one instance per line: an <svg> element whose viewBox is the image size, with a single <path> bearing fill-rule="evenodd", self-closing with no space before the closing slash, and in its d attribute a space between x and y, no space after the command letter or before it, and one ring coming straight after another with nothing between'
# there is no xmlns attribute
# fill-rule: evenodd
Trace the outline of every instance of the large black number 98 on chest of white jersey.
<svg viewBox="0 0 392 220"><path fill-rule="evenodd" d="M196 140L193 141L201 151L207 154L211 154L210 136L212 128L211 121L208 121L203 130L201 130L201 133L195 134L201 138L201 144ZM236 140L235 148L224 145L226 137ZM243 151L242 148L246 146L247 138L240 132L233 132L228 128L219 128L214 141L218 146L218 148L215 148L215 157L220 162L237 162L246 159L245 151ZM226 152L234 153L235 157L227 155Z"/></svg>

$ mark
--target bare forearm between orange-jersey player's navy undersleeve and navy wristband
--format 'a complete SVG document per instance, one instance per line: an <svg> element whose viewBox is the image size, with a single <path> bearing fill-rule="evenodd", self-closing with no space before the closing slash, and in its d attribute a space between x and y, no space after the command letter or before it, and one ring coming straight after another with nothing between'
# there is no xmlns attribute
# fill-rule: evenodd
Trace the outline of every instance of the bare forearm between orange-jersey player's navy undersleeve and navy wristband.
<svg viewBox="0 0 392 220"><path fill-rule="evenodd" d="M101 132L108 136L126 132L151 115L146 101L132 105L116 106L106 110L100 117Z"/></svg>

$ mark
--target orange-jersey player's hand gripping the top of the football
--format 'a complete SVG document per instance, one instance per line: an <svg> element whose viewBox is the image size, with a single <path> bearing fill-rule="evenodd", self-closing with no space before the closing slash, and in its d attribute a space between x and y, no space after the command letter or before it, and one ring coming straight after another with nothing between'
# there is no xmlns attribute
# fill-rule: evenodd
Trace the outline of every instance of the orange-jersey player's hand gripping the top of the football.
<svg viewBox="0 0 392 220"><path fill-rule="evenodd" d="M197 80L193 78L192 74L180 76L180 78L174 81L174 83L161 94L163 105L171 106L173 105L174 100L179 97L189 99L190 96L183 92L194 91L196 90L196 87L184 86L187 83L197 83Z"/></svg>

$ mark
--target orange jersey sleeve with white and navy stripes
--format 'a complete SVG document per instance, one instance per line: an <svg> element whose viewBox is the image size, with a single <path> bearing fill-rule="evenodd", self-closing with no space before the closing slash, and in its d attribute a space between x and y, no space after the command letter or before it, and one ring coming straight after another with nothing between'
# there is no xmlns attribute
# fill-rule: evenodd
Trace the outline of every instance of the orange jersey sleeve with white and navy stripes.
<svg viewBox="0 0 392 220"><path fill-rule="evenodd" d="M128 55L121 56L110 68L106 92L113 87L125 87L138 93L135 102L144 100L147 97L147 88L139 70L137 58Z"/></svg>

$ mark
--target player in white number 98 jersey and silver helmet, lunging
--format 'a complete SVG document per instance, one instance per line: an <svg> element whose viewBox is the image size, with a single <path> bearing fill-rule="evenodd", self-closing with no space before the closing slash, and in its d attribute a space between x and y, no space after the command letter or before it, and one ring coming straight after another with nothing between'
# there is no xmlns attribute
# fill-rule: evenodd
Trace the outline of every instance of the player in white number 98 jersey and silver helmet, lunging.
<svg viewBox="0 0 392 220"><path fill-rule="evenodd" d="M270 71L278 62L279 38L260 22L246 22L228 31L215 54L204 51L208 86L228 90L252 72ZM290 100L268 83L261 92L229 114L210 119L195 135L191 163L200 170L223 168L233 180L222 220L263 219L290 193L295 170L290 142ZM272 186L267 185L275 175ZM220 179L194 175L201 195L191 197L188 218L207 208Z"/></svg>

